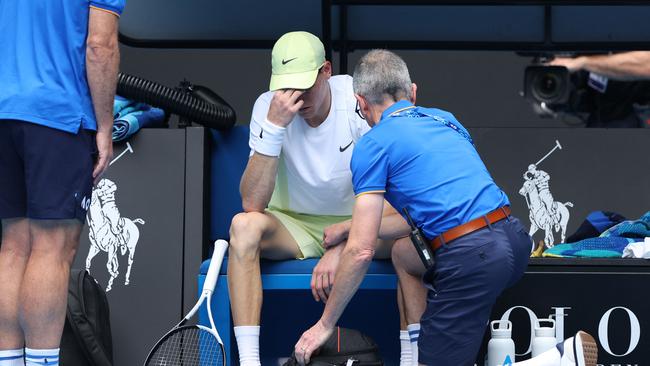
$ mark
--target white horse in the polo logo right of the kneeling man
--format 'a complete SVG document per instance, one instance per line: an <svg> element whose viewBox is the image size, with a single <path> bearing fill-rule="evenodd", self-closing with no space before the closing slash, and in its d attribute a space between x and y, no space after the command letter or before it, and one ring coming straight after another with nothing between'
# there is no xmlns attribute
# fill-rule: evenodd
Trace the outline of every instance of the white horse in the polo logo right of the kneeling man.
<svg viewBox="0 0 650 366"><path fill-rule="evenodd" d="M550 248L554 243L553 229L555 229L555 232L561 230L560 242L564 243L566 239L566 227L570 217L567 207L573 207L573 203L554 201L552 210L549 212L546 205L542 202L537 186L532 179L527 179L524 182L524 185L519 190L519 194L526 198L526 205L529 210L530 230L528 234L532 237L537 230L544 230L544 244L547 248Z"/></svg>

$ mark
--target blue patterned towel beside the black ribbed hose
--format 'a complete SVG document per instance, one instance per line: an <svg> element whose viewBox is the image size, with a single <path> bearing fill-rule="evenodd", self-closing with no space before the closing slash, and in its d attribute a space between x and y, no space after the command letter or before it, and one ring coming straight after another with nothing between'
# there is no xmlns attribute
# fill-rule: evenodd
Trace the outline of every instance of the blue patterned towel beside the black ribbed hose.
<svg viewBox="0 0 650 366"><path fill-rule="evenodd" d="M163 126L165 111L116 95L113 103L113 119L113 141L122 141L141 128Z"/></svg>

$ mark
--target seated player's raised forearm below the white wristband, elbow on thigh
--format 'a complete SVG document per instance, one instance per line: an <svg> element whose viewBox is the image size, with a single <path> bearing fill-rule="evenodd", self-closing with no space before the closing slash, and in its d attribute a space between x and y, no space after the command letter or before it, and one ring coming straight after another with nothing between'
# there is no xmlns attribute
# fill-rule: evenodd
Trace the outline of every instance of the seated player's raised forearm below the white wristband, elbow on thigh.
<svg viewBox="0 0 650 366"><path fill-rule="evenodd" d="M275 187L278 158L254 153L239 185L245 212L264 212Z"/></svg>

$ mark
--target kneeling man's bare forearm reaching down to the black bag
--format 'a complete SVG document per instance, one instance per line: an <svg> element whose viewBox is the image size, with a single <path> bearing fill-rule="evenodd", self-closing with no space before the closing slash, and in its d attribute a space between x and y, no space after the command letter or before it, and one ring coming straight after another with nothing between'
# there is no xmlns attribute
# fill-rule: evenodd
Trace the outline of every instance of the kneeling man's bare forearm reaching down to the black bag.
<svg viewBox="0 0 650 366"><path fill-rule="evenodd" d="M348 242L348 245L345 246L334 278L332 293L327 299L321 317L321 322L325 326L332 328L336 325L352 296L359 289L374 255L374 247L370 243L360 247Z"/></svg>

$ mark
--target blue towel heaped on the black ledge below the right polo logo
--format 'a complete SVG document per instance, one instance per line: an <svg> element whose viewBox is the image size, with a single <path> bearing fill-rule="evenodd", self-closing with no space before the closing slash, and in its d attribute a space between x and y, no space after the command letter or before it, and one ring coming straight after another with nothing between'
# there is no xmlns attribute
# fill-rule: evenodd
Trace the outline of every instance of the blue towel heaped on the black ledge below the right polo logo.
<svg viewBox="0 0 650 366"><path fill-rule="evenodd" d="M623 221L605 230L597 238L571 244L558 244L542 254L544 257L621 258L623 249L650 236L650 211L638 220Z"/></svg>

